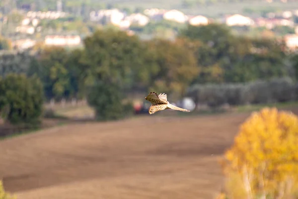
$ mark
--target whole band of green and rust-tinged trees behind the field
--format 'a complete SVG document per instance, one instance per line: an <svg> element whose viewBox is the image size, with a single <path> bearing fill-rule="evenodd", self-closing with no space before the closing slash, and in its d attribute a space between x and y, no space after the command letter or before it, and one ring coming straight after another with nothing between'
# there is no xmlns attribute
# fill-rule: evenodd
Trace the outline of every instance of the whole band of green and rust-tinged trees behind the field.
<svg viewBox="0 0 298 199"><path fill-rule="evenodd" d="M125 92L133 90L167 93L176 100L187 95L196 99L188 91L196 85L284 77L296 82L298 78L298 55L289 53L285 42L235 35L224 24L188 25L175 40L141 40L125 31L98 29L83 44L73 50L44 47L34 53L0 54L0 111L9 104L6 116L11 118L12 101L31 100L30 95L41 95L37 99L43 100L86 97L98 119L118 119L131 112ZM23 92L9 98L9 89ZM33 111L38 106L34 103L41 101L26 105L26 110ZM17 114L25 114L21 112Z"/></svg>

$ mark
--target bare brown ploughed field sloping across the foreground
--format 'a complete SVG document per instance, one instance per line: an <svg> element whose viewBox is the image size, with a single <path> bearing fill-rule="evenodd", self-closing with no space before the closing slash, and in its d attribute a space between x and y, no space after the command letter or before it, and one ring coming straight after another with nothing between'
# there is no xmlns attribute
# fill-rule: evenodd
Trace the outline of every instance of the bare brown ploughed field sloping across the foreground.
<svg viewBox="0 0 298 199"><path fill-rule="evenodd" d="M2 140L0 179L17 199L213 199L218 158L247 116L150 115Z"/></svg>

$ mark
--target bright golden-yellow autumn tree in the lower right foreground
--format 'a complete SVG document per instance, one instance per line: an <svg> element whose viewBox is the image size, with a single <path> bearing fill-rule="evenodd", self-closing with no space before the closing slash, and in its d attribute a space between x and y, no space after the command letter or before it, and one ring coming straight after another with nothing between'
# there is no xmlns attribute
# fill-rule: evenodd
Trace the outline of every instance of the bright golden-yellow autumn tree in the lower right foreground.
<svg viewBox="0 0 298 199"><path fill-rule="evenodd" d="M228 199L289 199L298 188L298 117L254 112L222 162Z"/></svg>

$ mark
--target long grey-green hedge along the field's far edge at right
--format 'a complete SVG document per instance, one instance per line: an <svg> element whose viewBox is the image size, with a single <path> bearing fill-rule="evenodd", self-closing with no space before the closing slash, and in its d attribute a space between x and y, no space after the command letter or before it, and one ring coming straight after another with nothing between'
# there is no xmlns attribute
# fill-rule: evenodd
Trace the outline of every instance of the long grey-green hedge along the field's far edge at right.
<svg viewBox="0 0 298 199"><path fill-rule="evenodd" d="M206 84L192 86L187 96L196 103L219 106L284 102L297 99L297 86L290 78L235 84ZM296 95L296 96L295 96Z"/></svg>

